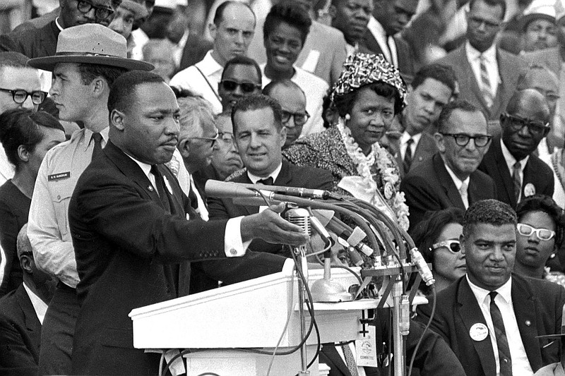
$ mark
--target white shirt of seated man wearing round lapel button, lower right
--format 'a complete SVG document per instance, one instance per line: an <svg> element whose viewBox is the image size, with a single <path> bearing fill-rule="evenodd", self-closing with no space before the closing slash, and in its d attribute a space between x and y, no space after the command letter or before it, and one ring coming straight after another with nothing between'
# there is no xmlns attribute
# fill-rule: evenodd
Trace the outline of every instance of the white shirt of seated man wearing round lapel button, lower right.
<svg viewBox="0 0 565 376"><path fill-rule="evenodd" d="M490 296L491 291L482 289L481 287L473 284L469 280L469 276L465 276L469 282L472 293L477 298L477 303L482 311L484 320L487 322L489 328L489 336L492 342L492 350L494 351L494 360L496 362L496 375L500 373L499 363L499 348L496 346L496 335L494 334L494 325L490 315ZM512 277L498 289L494 290L498 294L495 298L495 303L498 305L502 320L504 321L504 329L506 330L506 338L510 348L510 356L512 358L512 375L529 376L534 372L530 366L528 355L525 353L524 344L518 329L518 322L514 314L514 307L512 305Z"/></svg>

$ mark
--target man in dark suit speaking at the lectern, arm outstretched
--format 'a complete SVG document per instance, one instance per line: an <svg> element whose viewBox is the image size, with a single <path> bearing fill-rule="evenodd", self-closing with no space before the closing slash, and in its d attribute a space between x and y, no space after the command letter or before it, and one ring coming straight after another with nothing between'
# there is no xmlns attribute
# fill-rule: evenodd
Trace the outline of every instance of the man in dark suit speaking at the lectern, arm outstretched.
<svg viewBox="0 0 565 376"><path fill-rule="evenodd" d="M246 241L299 245L308 237L273 211L282 207L237 219L199 219L163 165L177 147L179 106L160 76L122 75L110 90L108 109L109 142L78 179L69 205L81 279L71 373L154 375L158 356L133 348L133 308L186 291L187 276L179 270L187 260L209 260L200 267L234 282L257 277L257 269L263 269L259 275L279 272L285 262L267 254L239 257Z"/></svg>

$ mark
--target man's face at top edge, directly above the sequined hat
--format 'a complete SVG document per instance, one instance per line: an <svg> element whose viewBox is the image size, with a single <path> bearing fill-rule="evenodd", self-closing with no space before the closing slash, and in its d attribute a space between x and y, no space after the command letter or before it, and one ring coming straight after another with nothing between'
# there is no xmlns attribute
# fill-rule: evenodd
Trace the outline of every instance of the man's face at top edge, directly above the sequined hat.
<svg viewBox="0 0 565 376"><path fill-rule="evenodd" d="M347 43L355 45L362 40L373 13L373 0L341 0L331 9L335 14L331 25L343 32Z"/></svg>

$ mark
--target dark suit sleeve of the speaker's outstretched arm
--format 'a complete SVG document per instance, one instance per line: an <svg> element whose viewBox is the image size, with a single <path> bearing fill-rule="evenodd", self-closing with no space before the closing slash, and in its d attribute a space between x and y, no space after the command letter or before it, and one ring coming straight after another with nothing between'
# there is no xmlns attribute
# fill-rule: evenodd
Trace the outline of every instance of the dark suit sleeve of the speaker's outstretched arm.
<svg viewBox="0 0 565 376"><path fill-rule="evenodd" d="M79 234L73 238L95 231L138 257L174 262L202 260L213 254L225 257L218 250L224 247L227 221L187 221L173 216L157 203L141 197L131 181L120 181L109 174L105 178L89 174L82 183L81 179L69 205L71 231Z"/></svg>

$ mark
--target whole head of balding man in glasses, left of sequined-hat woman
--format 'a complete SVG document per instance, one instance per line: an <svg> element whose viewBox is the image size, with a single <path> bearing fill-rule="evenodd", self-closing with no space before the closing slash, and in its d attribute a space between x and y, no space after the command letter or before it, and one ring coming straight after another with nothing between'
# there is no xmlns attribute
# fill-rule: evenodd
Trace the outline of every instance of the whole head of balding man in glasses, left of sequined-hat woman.
<svg viewBox="0 0 565 376"><path fill-rule="evenodd" d="M275 99L282 109L282 121L287 131L284 150L300 137L302 127L310 117L306 111L306 95L291 80L272 81L263 88L263 94Z"/></svg>

